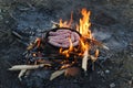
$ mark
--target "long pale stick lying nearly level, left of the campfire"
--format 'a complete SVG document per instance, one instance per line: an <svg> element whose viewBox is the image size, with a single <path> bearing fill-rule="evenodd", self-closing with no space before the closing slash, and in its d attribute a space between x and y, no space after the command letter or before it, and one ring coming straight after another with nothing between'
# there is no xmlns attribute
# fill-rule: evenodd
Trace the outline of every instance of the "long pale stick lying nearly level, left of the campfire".
<svg viewBox="0 0 133 88"><path fill-rule="evenodd" d="M40 65L14 65L9 70L22 70L22 69L37 69L44 66L51 66L51 64L40 64Z"/></svg>

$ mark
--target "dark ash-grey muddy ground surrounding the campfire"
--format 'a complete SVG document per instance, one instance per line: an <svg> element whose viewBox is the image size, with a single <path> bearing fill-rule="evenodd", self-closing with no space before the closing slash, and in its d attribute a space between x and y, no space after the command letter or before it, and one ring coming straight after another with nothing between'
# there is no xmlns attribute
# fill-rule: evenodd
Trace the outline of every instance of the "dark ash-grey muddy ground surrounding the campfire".
<svg viewBox="0 0 133 88"><path fill-rule="evenodd" d="M82 8L92 12L94 36L110 47L99 56L102 68L98 66L89 76L80 78L59 77L53 81L30 78L27 85L17 78L19 72L7 70L21 64L25 51L25 45L11 34L13 30L23 36L30 31L34 35L51 29L51 20L69 20L71 11L78 22ZM0 38L0 88L133 88L132 0L1 0Z"/></svg>

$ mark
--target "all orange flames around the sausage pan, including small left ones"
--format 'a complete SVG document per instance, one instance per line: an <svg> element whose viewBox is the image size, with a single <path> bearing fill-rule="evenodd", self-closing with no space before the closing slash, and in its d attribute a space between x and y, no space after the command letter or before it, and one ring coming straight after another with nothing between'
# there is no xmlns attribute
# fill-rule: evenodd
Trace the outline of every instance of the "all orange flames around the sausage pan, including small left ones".
<svg viewBox="0 0 133 88"><path fill-rule="evenodd" d="M60 22L57 23L57 22L53 22L54 24L57 24L58 28L71 28L72 29L72 14L71 13L71 19L70 21L62 21L62 19L60 19ZM81 34L80 36L80 40L78 40L79 44L78 46L74 46L73 45L73 42L72 42L72 37L68 37L69 40L69 48L60 48L59 51L59 54L61 55L64 55L66 61L70 59L70 57L72 56L73 57L73 62L76 63L78 59L76 57L82 57L82 63L86 63L88 59L91 59L92 62L95 62L98 59L98 56L99 56L99 50L98 50L98 46L102 46L102 47L105 47L102 45L101 42L98 42L93 36L92 36L92 33L91 33L91 30L90 30L90 26L91 26L91 22L90 22L90 15L91 15L91 12L88 11L86 9L82 9L81 10L81 14L82 14L82 18L79 20L79 24L75 24L75 31L79 32ZM29 45L29 47L27 48L28 51L32 51L32 48L43 48L44 45L42 44L42 41L43 38L40 38L40 37L37 37L35 42L34 43L31 43ZM88 54L86 54L88 53ZM32 56L33 57L37 57L37 58L42 58L43 57L43 53L39 52L37 53L32 53ZM64 61L65 62L65 61ZM40 63L40 61L38 61L37 63ZM84 70L86 70L86 64L84 64L82 66L84 68Z"/></svg>

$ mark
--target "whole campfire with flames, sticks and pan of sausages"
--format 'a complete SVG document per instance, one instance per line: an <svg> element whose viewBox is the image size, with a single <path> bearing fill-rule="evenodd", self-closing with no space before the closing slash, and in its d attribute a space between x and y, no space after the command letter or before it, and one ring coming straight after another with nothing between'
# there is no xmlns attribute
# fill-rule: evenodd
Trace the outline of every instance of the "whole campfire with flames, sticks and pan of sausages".
<svg viewBox="0 0 133 88"><path fill-rule="evenodd" d="M100 47L109 50L103 43L96 41L90 30L91 12L86 9L81 10L82 18L79 24L72 25L72 13L69 22L53 22L53 29L42 32L41 37L37 37L27 47L23 54L25 65L16 65L9 70L21 70L19 79L31 69L51 69L54 73L50 80L64 74L75 76L80 73L79 68L85 72L91 69L89 63L96 62ZM73 70L69 72L69 70ZM75 73L76 70L76 73Z"/></svg>

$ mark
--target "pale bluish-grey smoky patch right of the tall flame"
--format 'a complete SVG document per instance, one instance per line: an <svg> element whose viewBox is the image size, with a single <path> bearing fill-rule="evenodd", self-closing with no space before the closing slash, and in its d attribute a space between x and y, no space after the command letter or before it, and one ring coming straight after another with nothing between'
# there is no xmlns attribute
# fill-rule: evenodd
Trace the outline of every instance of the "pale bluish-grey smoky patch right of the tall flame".
<svg viewBox="0 0 133 88"><path fill-rule="evenodd" d="M121 51L123 47L126 46L125 42L121 41L122 38L120 37L119 40L112 32L110 28L106 29L94 29L93 31L93 36L102 42L104 45L106 45L110 50L113 51Z"/></svg>

